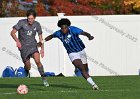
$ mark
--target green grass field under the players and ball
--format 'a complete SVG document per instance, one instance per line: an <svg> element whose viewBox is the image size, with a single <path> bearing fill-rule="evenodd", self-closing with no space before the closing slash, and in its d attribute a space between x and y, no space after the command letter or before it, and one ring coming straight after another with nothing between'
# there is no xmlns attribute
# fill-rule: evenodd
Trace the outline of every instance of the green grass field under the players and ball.
<svg viewBox="0 0 140 99"><path fill-rule="evenodd" d="M49 87L40 78L0 78L0 99L140 99L140 76L93 78L100 90L82 77L49 77ZM28 94L16 93L20 84L28 86Z"/></svg>

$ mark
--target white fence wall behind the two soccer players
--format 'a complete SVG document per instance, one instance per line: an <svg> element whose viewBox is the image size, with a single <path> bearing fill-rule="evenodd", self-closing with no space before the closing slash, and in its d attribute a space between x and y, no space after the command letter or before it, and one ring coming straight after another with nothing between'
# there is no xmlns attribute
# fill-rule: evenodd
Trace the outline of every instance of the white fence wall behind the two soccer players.
<svg viewBox="0 0 140 99"><path fill-rule="evenodd" d="M140 18L138 15L107 16L65 16L72 25L89 33L95 39L89 41L80 36L86 45L89 73L92 76L138 75L140 69ZM6 66L17 68L23 66L19 51L10 36L12 26L18 18L0 18L0 75ZM58 17L38 17L43 37L58 30ZM52 39L45 43L45 57L41 59L46 72L74 75L74 66L61 41ZM31 60L31 76L39 76L36 65Z"/></svg>

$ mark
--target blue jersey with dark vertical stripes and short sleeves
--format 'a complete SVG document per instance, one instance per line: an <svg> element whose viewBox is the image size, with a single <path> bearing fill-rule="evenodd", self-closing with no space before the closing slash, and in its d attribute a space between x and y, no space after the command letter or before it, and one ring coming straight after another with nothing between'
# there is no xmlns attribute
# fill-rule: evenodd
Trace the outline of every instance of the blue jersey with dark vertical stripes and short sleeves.
<svg viewBox="0 0 140 99"><path fill-rule="evenodd" d="M83 30L74 26L69 26L68 29L69 32L67 34L64 34L61 30L58 30L53 34L53 37L59 38L63 42L68 54L82 51L85 48L85 45L79 38L79 35L83 32Z"/></svg>

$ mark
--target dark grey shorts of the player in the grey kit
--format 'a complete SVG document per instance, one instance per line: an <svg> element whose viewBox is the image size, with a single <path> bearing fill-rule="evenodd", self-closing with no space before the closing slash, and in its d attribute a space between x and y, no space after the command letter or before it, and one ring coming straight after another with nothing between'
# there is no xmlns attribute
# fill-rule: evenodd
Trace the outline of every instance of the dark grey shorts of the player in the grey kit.
<svg viewBox="0 0 140 99"><path fill-rule="evenodd" d="M23 61L29 60L35 52L38 52L37 46L22 46L20 49L20 55Z"/></svg>

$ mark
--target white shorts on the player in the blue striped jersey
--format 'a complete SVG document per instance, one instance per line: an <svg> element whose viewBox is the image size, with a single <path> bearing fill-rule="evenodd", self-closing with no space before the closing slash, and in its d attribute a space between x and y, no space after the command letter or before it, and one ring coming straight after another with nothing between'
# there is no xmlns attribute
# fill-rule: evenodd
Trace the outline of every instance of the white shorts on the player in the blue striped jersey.
<svg viewBox="0 0 140 99"><path fill-rule="evenodd" d="M69 58L70 58L71 62L73 62L76 59L81 59L83 64L87 63L87 56L86 56L86 52L84 50L82 50L80 52L70 53Z"/></svg>

